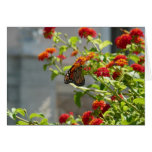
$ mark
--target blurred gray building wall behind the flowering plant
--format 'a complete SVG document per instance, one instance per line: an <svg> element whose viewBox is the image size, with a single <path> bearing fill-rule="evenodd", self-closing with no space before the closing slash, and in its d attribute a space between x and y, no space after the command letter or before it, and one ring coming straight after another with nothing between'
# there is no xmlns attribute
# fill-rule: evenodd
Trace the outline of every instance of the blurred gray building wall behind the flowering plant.
<svg viewBox="0 0 152 152"><path fill-rule="evenodd" d="M101 33L102 40L112 41L122 34L120 27L93 27ZM130 30L131 28L124 29ZM79 27L57 27L56 31L78 36ZM144 28L141 28L144 31ZM28 113L43 113L49 122L57 122L62 113L74 112L81 115L91 110L92 99L87 95L82 98L82 107L74 104L73 88L64 84L63 76L50 80L51 72L43 71L45 62L38 61L38 54L52 47L52 40L45 39L42 27L7 28L7 107L26 108ZM83 40L82 40L83 41ZM80 46L83 49L83 43ZM104 48L104 52L115 52L115 45ZM72 50L66 53L71 54ZM54 55L58 55L58 52ZM66 55L66 54L65 54ZM75 58L64 60L64 65L71 65ZM86 85L91 79L86 78ZM8 118L8 125L15 124Z"/></svg>

